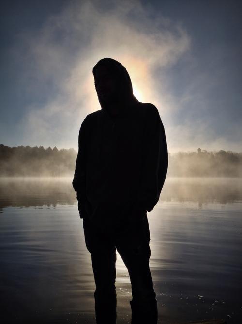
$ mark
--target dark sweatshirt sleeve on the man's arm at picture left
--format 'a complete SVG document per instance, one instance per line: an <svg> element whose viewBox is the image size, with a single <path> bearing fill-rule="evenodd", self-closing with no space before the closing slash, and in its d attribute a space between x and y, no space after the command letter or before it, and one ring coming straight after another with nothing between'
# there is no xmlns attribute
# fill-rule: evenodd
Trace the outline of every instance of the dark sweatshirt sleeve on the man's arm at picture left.
<svg viewBox="0 0 242 324"><path fill-rule="evenodd" d="M76 198L78 200L78 210L80 217L83 218L86 203L86 118L83 120L78 136L78 153L76 157L75 174L72 181Z"/></svg>

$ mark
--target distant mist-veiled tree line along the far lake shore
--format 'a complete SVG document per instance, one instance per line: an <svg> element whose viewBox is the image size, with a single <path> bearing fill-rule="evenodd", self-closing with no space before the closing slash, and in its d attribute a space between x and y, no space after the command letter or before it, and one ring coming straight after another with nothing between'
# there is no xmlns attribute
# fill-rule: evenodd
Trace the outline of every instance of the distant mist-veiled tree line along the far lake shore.
<svg viewBox="0 0 242 324"><path fill-rule="evenodd" d="M0 176L73 176L77 152L43 146L8 147L0 144ZM242 153L232 151L169 154L168 176L242 177Z"/></svg>

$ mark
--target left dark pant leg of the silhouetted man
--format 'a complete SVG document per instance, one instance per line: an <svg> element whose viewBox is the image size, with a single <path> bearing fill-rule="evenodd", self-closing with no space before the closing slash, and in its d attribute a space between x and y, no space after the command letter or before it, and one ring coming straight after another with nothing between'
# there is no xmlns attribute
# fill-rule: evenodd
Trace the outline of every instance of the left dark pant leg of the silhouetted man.
<svg viewBox="0 0 242 324"><path fill-rule="evenodd" d="M116 323L116 247L110 236L99 233L88 218L83 219L85 242L91 253L96 284L94 292L97 324Z"/></svg>

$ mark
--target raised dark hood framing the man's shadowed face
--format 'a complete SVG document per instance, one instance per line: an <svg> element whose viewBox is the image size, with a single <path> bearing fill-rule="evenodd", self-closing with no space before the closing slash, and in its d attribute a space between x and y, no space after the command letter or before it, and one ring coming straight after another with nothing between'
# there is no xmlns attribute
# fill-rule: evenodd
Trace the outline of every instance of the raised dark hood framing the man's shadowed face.
<svg viewBox="0 0 242 324"><path fill-rule="evenodd" d="M112 74L117 78L119 82L120 96L119 100L117 101L117 105L120 106L120 112L118 116L123 116L124 114L128 113L136 103L139 102L133 94L133 87L129 73L120 62L112 58L106 57L98 61L97 64L93 67L92 73L94 76L94 80L96 69L101 65L110 69L112 71ZM108 111L108 105L106 104L106 102L104 102L99 96L98 101L101 105L102 110L105 110L106 113L108 113L108 115L110 116Z"/></svg>

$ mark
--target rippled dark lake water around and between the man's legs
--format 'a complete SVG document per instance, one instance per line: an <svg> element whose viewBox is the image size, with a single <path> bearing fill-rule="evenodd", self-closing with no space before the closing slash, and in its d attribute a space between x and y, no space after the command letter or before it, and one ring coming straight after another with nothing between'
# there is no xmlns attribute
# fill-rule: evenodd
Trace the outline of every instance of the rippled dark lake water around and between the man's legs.
<svg viewBox="0 0 242 324"><path fill-rule="evenodd" d="M71 179L0 180L1 323L95 323ZM242 323L242 180L167 179L148 213L159 323ZM117 324L131 284L117 253Z"/></svg>

